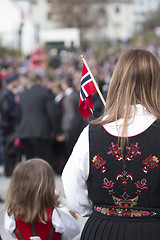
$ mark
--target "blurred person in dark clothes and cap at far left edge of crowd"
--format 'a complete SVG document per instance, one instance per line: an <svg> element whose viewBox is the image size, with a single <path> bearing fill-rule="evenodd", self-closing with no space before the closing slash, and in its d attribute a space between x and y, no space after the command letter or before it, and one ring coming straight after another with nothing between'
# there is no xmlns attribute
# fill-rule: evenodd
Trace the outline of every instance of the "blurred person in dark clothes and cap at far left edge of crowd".
<svg viewBox="0 0 160 240"><path fill-rule="evenodd" d="M19 84L19 75L11 74L5 79L5 86L0 91L0 115L3 135L3 157L5 175L11 176L19 161L19 153L13 146L13 135L17 128L16 88ZM11 148L14 149L11 151Z"/></svg>

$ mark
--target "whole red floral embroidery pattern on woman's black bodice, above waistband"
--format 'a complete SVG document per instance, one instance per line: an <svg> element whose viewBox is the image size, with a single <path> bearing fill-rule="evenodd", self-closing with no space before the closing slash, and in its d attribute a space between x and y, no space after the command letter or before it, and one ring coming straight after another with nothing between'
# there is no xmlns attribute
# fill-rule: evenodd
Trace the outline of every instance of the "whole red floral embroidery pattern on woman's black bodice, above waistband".
<svg viewBox="0 0 160 240"><path fill-rule="evenodd" d="M125 148L126 154L123 156L121 154L121 148L118 144L114 144L111 142L111 146L109 147L108 155L112 155L116 160L121 161L123 158L128 161L133 161L138 155L141 155L140 147L138 146L138 142L136 144L130 144ZM124 151L125 152L125 151ZM101 173L104 173L107 168L105 167L106 161L98 155L94 156L92 159L92 166L96 169L99 169ZM148 158L142 161L144 167L142 168L144 173L149 173L151 169L159 167L159 160L156 156L150 155ZM129 163L128 163L129 164ZM121 181L121 195L115 196L114 185L116 182L109 180L108 178L103 179L103 188L108 190L109 195L112 196L114 204L120 207L133 207L137 204L139 196L142 194L143 190L147 190L147 180L145 178L133 182L134 186L136 186L135 196L130 196L127 192L128 181L134 181L134 176L128 173L126 170L123 170L122 173L118 173L115 177L116 181ZM104 210L105 211L105 210ZM136 214L136 212L134 213ZM140 214L140 212L137 212Z"/></svg>

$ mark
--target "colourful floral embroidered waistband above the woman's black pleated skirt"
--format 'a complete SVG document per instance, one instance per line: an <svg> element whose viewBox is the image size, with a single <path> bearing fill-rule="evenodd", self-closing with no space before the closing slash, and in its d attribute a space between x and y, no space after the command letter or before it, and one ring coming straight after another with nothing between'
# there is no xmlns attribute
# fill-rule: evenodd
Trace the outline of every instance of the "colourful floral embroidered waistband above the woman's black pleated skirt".
<svg viewBox="0 0 160 240"><path fill-rule="evenodd" d="M145 211L145 210L138 210L138 209L128 209L128 208L114 208L114 207L94 207L96 212L106 214L108 216L123 216L123 217L146 217L151 216L154 217L157 215L155 211Z"/></svg>

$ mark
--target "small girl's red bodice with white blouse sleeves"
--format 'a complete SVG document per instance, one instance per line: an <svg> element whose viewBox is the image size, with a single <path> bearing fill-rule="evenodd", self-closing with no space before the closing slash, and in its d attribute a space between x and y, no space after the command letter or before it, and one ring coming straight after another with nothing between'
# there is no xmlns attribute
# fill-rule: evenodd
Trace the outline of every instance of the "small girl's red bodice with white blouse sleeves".
<svg viewBox="0 0 160 240"><path fill-rule="evenodd" d="M68 208L61 206L47 209L47 214L46 224L38 220L30 224L17 220L14 216L9 217L5 213L4 226L13 238L19 240L69 240L80 233L80 224L70 214Z"/></svg>

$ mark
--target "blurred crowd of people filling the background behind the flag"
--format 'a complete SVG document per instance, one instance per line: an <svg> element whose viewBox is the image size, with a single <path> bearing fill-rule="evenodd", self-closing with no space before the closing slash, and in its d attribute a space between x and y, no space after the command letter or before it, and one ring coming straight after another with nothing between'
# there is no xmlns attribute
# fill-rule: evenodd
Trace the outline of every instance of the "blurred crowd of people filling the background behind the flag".
<svg viewBox="0 0 160 240"><path fill-rule="evenodd" d="M160 48L148 46L160 55ZM116 56L97 63L91 49L85 57L106 100ZM82 59L62 50L48 57L38 50L27 58L0 59L0 171L6 176L19 161L39 157L57 174L63 167L88 121L102 115L103 103L93 94L94 112L84 121L78 111Z"/></svg>

